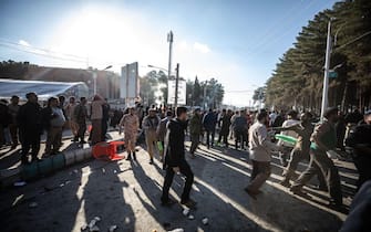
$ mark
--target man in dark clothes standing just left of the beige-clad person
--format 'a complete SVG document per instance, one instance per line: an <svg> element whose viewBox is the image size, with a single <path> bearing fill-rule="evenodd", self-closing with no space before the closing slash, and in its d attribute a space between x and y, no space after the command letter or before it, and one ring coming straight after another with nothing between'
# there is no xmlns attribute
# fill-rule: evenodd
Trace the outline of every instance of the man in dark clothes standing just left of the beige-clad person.
<svg viewBox="0 0 371 232"><path fill-rule="evenodd" d="M86 131L86 118L87 118L87 109L86 109L86 98L81 97L80 104L76 105L73 112L73 117L75 118L75 122L78 124L78 141L80 139L80 144L86 144L85 141L85 131Z"/></svg>

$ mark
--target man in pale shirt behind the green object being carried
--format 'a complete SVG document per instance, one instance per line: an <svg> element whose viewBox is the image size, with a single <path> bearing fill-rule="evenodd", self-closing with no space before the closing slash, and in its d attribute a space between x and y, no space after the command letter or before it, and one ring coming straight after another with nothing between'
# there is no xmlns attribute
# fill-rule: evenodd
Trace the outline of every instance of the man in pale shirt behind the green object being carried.
<svg viewBox="0 0 371 232"><path fill-rule="evenodd" d="M284 122L282 127L288 128L288 127L291 127L291 126L298 125L298 124L300 124L300 120L298 119L298 113L296 110L289 110L287 113L287 119ZM281 131L281 135L298 138L298 134L293 130ZM282 140L279 140L278 145L284 146L284 148L285 148L284 151L280 152L279 158L280 158L281 165L284 167L287 167L289 155L290 155L290 152L291 152L291 150L293 149L295 146L292 144L289 144L289 143L282 141Z"/></svg>

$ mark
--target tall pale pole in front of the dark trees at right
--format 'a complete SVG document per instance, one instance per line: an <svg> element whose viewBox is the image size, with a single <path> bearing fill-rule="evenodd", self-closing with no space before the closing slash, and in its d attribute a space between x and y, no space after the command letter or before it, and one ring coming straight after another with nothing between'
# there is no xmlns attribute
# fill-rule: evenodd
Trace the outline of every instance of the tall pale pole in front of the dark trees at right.
<svg viewBox="0 0 371 232"><path fill-rule="evenodd" d="M326 45L326 61L324 61L324 75L323 75L323 92L322 92L322 106L321 119L323 119L324 110L328 107L328 92L329 92L329 73L330 73L330 56L331 56L331 19L329 20L327 29L327 45Z"/></svg>

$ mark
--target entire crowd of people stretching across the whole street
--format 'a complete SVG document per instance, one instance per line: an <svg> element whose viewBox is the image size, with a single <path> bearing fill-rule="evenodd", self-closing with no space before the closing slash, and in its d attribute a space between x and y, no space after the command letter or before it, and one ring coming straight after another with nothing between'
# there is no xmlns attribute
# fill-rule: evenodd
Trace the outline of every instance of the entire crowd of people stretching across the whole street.
<svg viewBox="0 0 371 232"><path fill-rule="evenodd" d="M186 134L190 140L190 158L196 158L200 143L207 149L228 149L229 141L234 141L236 150L247 150L253 172L245 191L253 199L260 194L260 187L270 176L272 151L279 155L285 168L280 184L296 194L302 194L302 187L317 176L319 190L329 192L330 204L334 207L342 205L342 191L339 170L329 151L344 152L347 147L360 175L358 189L371 179L371 110L361 114L354 109L343 115L338 108L328 108L319 120L309 112L202 110L197 107L187 112L185 107L144 108L138 103L125 112L112 110L99 95L90 104L84 97L79 101L70 97L69 103L63 96L50 97L43 107L35 93L28 93L25 98L27 103L22 105L18 96L12 96L9 104L0 101L0 145L14 149L21 144L22 164L29 164L30 150L32 161L39 160L43 133L47 135L43 156L47 157L60 151L66 126L72 131L72 141L85 144L86 122L91 120L91 145L106 140L109 125L118 127L120 134L124 134L127 160L136 160L135 147L141 140L146 145L151 165L158 151L159 161L166 170L162 196L164 204L172 203L168 189L177 172L186 177L182 203L195 204L189 198L193 172L185 158ZM293 138L296 143L277 140L275 134ZM302 160L309 160L308 168L296 178Z"/></svg>

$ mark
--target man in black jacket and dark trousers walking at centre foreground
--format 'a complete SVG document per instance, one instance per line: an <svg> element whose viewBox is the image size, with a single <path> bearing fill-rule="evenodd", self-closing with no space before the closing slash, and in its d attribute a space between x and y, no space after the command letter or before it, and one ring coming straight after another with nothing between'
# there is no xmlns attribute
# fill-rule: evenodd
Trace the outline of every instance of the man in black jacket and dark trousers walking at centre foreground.
<svg viewBox="0 0 371 232"><path fill-rule="evenodd" d="M182 172L186 177L181 203L193 208L196 202L189 198L194 175L188 162L185 159L184 138L187 128L187 108L177 107L176 118L167 124L166 145L165 145L165 162L166 176L163 187L163 196L161 198L163 205L169 205L173 201L168 198L168 190L172 186L175 173Z"/></svg>

